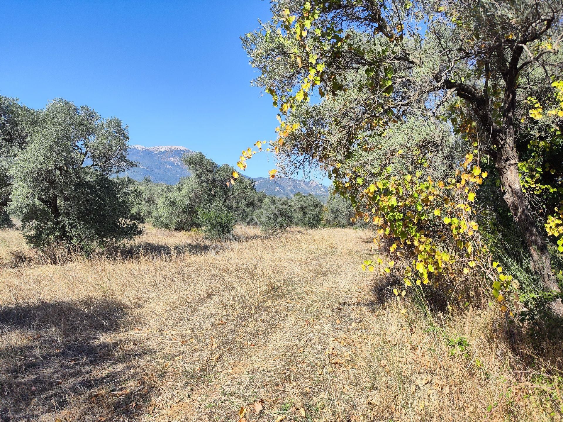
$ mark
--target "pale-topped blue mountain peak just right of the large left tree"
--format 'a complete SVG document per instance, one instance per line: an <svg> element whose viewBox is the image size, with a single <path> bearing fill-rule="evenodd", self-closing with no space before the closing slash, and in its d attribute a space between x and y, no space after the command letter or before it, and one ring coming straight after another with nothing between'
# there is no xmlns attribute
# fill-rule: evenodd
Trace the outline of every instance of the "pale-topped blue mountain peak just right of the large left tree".
<svg viewBox="0 0 563 422"><path fill-rule="evenodd" d="M175 185L181 177L190 174L182 163L182 156L193 153L194 151L184 146L131 145L128 158L138 162L138 165L119 176L129 176L135 180L150 176L154 183Z"/></svg>

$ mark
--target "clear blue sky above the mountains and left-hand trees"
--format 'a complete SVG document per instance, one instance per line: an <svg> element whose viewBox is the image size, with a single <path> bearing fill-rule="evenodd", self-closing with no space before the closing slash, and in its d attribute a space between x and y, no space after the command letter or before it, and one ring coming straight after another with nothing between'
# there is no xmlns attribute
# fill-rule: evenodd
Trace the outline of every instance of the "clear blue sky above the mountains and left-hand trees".
<svg viewBox="0 0 563 422"><path fill-rule="evenodd" d="M219 164L275 138L271 97L239 36L270 17L262 0L2 0L0 94L56 97L129 126L131 144L183 145ZM245 174L267 176L259 154Z"/></svg>

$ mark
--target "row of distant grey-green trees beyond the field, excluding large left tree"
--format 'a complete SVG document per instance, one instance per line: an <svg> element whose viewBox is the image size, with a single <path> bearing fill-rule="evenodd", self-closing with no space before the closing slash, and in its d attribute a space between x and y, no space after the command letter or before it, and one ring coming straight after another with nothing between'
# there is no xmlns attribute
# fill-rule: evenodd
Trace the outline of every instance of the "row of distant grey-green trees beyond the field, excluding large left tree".
<svg viewBox="0 0 563 422"><path fill-rule="evenodd" d="M176 185L152 183L150 177L138 184L141 200L133 211L139 220L168 230L203 228L212 238L230 236L235 223L257 225L269 234L290 226L351 225L352 205L342 197L330 196L324 206L312 194L267 196L247 177L232 184L234 168L218 166L202 153L186 154L182 161L190 176Z"/></svg>

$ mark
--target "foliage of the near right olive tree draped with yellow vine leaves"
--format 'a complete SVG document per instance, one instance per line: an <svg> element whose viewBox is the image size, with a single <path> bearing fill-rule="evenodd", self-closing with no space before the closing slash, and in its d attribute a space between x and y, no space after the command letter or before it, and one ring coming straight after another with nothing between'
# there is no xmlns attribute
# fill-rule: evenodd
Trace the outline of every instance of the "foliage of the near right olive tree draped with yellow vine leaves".
<svg viewBox="0 0 563 422"><path fill-rule="evenodd" d="M563 199L561 0L279 0L272 13L243 45L280 109L282 166L324 166L390 253L412 260L405 285L479 271L505 310L517 284L495 273L475 202L483 183L502 188L531 268L560 292L541 226ZM390 137L415 122L427 123L423 136L395 148ZM557 220L548 234L559 235ZM552 309L562 315L561 300Z"/></svg>

